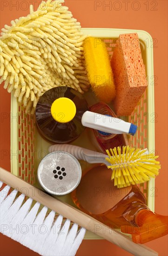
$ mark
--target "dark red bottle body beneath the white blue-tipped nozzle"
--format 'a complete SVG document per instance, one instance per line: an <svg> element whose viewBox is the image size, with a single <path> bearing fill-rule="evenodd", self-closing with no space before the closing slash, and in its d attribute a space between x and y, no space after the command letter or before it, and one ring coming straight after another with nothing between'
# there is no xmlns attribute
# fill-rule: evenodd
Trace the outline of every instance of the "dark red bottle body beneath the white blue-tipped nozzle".
<svg viewBox="0 0 168 256"><path fill-rule="evenodd" d="M117 118L115 113L112 111L112 109L105 104L104 102L99 102L94 105L92 105L89 108L90 111L102 115L112 116ZM118 146L127 146L128 145L128 139L127 135L125 134L109 134L105 132L101 132L99 130L92 130L90 140L94 144L94 146L97 148L99 146L99 149L106 154L106 149L115 148ZM93 136L94 135L94 136ZM95 139L96 138L96 141Z"/></svg>

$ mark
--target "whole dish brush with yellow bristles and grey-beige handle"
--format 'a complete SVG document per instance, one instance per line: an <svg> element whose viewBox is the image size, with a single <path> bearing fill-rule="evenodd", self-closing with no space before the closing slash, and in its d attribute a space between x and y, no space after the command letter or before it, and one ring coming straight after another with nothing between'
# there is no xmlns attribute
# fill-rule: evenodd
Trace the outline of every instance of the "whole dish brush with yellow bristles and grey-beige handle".
<svg viewBox="0 0 168 256"><path fill-rule="evenodd" d="M149 153L147 149L130 148L129 146L107 150L108 155L92 151L74 145L52 145L48 151L64 150L74 155L79 160L89 163L104 163L112 169L110 180L114 180L114 186L123 188L131 184L147 182L151 177L155 178L161 168L158 156ZM111 154L110 154L111 153Z"/></svg>

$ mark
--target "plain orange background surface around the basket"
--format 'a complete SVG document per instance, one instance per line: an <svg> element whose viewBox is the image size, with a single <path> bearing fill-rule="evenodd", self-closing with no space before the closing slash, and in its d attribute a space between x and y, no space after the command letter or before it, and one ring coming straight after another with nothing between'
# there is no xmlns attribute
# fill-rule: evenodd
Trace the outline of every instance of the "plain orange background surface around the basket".
<svg viewBox="0 0 168 256"><path fill-rule="evenodd" d="M28 5L37 8L39 0L0 0L0 28L29 13ZM15 6L16 5L16 6ZM107 27L146 30L155 39L155 149L161 162L160 175L155 180L155 212L168 215L168 1L167 0L66 0L82 27ZM15 7L14 7L15 6ZM10 94L0 86L0 166L10 170ZM1 115L2 117L2 115ZM168 255L168 236L146 243L160 256ZM1 256L33 256L33 251L0 234ZM126 251L104 240L85 240L77 256L127 256Z"/></svg>

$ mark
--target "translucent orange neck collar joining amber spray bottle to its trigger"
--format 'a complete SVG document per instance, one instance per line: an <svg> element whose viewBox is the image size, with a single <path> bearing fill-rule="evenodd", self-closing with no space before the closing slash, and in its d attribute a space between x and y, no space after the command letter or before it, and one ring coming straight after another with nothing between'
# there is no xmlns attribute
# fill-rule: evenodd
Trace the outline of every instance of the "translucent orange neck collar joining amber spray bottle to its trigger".
<svg viewBox="0 0 168 256"><path fill-rule="evenodd" d="M142 202L132 202L122 216L128 221L128 224L138 227L140 226L140 218L137 218L137 216L140 216L143 211L150 211L146 204L143 204Z"/></svg>

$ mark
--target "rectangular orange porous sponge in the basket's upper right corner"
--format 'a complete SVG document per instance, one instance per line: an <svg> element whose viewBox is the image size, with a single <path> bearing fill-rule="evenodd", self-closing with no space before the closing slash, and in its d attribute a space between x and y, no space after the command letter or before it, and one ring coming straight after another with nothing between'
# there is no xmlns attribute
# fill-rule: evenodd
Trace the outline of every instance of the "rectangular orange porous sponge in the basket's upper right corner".
<svg viewBox="0 0 168 256"><path fill-rule="evenodd" d="M111 59L114 73L117 115L131 115L148 82L137 33L120 34Z"/></svg>

